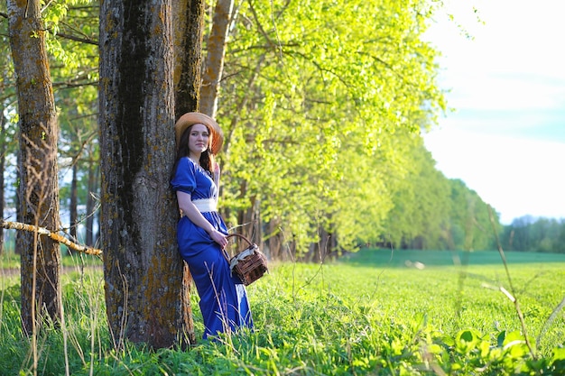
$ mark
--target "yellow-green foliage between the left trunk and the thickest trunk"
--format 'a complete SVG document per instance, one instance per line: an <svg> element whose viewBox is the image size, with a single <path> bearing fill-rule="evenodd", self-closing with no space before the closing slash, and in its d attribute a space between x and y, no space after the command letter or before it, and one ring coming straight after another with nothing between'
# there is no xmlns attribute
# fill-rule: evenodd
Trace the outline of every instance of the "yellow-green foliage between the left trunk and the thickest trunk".
<svg viewBox="0 0 565 376"><path fill-rule="evenodd" d="M45 12L46 23L52 26L48 40L51 77L55 101L60 108L61 203L69 199L69 171L73 164L79 165L79 203L86 203L91 189L88 187L88 170L99 160L98 12L97 2L92 0L51 4Z"/></svg>

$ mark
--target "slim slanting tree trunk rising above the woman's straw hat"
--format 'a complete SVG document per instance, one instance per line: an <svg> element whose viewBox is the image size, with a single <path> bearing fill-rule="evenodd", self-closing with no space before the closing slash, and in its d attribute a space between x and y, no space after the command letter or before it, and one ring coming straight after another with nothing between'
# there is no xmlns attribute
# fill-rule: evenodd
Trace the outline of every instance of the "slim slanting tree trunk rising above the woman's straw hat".
<svg viewBox="0 0 565 376"><path fill-rule="evenodd" d="M218 0L212 19L212 30L208 36L208 55L202 78L200 112L214 118L218 111L218 94L224 70L226 40L233 9L234 0Z"/></svg>

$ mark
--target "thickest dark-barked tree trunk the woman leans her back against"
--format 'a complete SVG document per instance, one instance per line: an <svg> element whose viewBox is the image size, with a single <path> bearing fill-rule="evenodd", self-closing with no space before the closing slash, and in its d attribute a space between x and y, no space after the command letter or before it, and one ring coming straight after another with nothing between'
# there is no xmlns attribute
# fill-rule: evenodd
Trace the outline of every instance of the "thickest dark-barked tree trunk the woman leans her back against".
<svg viewBox="0 0 565 376"><path fill-rule="evenodd" d="M100 6L101 248L115 345L186 340L177 250L171 0Z"/></svg>

